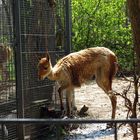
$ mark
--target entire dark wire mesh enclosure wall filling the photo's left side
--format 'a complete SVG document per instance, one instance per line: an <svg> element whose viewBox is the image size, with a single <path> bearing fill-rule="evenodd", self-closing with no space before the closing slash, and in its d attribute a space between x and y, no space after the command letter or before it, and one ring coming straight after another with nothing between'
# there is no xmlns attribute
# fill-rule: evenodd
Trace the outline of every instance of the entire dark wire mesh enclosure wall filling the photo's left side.
<svg viewBox="0 0 140 140"><path fill-rule="evenodd" d="M46 50L53 64L70 52L70 20L67 0L0 0L1 118L41 118L41 107L55 107L55 84L38 79L37 65ZM6 125L1 127L0 139L35 140L45 130Z"/></svg>

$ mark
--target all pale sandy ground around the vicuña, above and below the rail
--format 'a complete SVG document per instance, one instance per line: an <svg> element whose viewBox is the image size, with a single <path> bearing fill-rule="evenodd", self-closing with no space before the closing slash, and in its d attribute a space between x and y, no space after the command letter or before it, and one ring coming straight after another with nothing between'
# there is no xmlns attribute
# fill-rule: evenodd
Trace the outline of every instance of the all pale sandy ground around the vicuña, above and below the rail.
<svg viewBox="0 0 140 140"><path fill-rule="evenodd" d="M121 93L128 87L130 82L124 79L114 79L113 90ZM133 90L133 89L131 89ZM133 91L129 93L133 97ZM83 105L89 107L88 118L110 119L111 103L109 97L99 88L95 81L84 84L81 88L75 89L75 105L80 110ZM124 99L117 97L116 119L126 119L127 109L124 106ZM132 135L128 126L123 126L118 130L118 140L132 140ZM84 127L73 130L69 140L114 140L114 130L106 129L105 124L87 124Z"/></svg>

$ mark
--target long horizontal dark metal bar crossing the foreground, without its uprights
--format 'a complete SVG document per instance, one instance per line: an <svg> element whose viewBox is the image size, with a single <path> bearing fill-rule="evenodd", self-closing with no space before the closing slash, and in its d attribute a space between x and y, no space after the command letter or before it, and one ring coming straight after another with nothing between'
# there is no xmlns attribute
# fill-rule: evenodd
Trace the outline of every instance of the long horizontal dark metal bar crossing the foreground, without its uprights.
<svg viewBox="0 0 140 140"><path fill-rule="evenodd" d="M93 120L93 119L5 119L0 118L0 123L4 124L81 124L81 123L140 123L140 119L118 119L118 120Z"/></svg>

